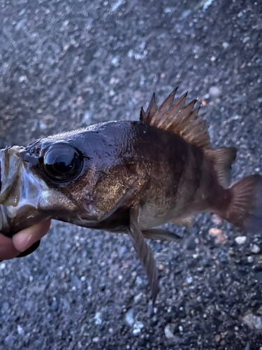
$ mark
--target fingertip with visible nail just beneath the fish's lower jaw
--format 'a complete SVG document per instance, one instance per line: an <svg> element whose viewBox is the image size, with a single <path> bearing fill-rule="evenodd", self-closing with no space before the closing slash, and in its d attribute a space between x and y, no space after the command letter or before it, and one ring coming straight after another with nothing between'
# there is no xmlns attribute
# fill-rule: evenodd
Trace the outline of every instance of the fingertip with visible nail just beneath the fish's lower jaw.
<svg viewBox="0 0 262 350"><path fill-rule="evenodd" d="M29 246L34 244L39 239L43 238L50 228L51 221L43 221L43 223L37 223L30 228L18 232L13 236L13 244L17 251L26 251Z"/></svg>

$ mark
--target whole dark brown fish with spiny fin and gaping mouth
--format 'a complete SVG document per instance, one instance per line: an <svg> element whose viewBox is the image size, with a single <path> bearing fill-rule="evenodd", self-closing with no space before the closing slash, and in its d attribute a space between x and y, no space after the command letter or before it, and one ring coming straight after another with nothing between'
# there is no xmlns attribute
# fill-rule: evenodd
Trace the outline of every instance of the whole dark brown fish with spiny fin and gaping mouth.
<svg viewBox="0 0 262 350"><path fill-rule="evenodd" d="M262 232L262 177L231 184L236 148L212 148L203 114L173 90L158 107L153 94L137 121L99 123L0 150L0 232L52 218L129 235L155 302L159 277L145 239L175 241L158 228L217 214ZM29 251L37 248L39 242Z"/></svg>

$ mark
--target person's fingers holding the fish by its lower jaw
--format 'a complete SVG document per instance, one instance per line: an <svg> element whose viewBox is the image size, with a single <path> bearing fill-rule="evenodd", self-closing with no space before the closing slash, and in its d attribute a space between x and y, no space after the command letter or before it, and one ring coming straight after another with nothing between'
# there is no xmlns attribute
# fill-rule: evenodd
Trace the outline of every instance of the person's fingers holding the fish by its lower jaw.
<svg viewBox="0 0 262 350"><path fill-rule="evenodd" d="M43 238L50 228L51 221L43 221L8 238L0 233L0 260L13 259L26 251L32 244Z"/></svg>

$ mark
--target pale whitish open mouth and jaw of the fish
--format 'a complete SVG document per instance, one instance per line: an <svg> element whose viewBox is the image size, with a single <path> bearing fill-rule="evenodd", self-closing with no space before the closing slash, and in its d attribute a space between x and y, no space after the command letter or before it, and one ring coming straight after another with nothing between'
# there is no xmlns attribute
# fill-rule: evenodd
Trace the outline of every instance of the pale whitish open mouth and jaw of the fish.
<svg viewBox="0 0 262 350"><path fill-rule="evenodd" d="M50 216L39 210L50 189L27 168L20 158L22 151L24 148L19 146L0 150L0 231L4 235L27 227L24 221L30 225Z"/></svg>

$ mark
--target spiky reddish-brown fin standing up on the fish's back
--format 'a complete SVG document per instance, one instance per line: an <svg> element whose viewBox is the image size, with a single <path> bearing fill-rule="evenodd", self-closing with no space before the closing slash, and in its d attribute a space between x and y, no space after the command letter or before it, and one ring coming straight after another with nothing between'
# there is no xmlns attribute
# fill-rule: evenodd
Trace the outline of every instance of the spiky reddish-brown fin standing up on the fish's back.
<svg viewBox="0 0 262 350"><path fill-rule="evenodd" d="M187 92L173 104L175 92L173 90L165 101L157 108L154 94L146 112L140 113L140 120L148 125L159 127L174 134L180 135L185 141L203 149L210 148L208 130L205 127L203 116L198 116L200 107L194 109L196 100L186 106Z"/></svg>

